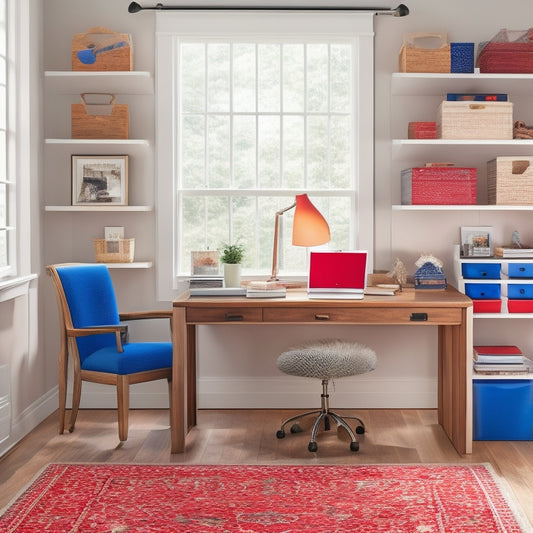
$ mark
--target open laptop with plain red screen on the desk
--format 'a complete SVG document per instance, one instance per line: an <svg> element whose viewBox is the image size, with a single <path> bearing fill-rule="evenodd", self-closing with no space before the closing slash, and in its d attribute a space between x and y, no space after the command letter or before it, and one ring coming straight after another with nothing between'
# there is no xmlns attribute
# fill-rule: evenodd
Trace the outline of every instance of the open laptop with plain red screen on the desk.
<svg viewBox="0 0 533 533"><path fill-rule="evenodd" d="M309 298L363 298L366 263L366 250L310 252Z"/></svg>

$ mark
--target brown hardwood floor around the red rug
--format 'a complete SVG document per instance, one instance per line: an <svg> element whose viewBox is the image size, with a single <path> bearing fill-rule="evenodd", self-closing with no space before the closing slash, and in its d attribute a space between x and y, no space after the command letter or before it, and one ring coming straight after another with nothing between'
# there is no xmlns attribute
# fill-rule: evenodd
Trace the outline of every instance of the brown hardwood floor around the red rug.
<svg viewBox="0 0 533 533"><path fill-rule="evenodd" d="M513 490L533 524L533 441L474 442L457 454L434 410L359 410L367 426L358 452L344 432L320 433L318 452L307 451L309 433L276 438L292 410L202 410L183 454L170 454L168 412L130 411L130 432L118 441L116 411L82 410L73 433L57 434L57 414L47 418L0 458L0 509L48 463L116 462L183 464L490 463ZM348 411L343 411L348 414ZM306 428L304 428L306 429Z"/></svg>

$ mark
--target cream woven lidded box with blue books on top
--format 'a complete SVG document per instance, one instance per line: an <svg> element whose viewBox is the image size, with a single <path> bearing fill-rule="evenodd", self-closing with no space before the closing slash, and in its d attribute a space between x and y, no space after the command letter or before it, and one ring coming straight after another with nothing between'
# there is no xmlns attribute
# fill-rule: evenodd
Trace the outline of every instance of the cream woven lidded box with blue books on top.
<svg viewBox="0 0 533 533"><path fill-rule="evenodd" d="M437 109L440 139L512 139L511 102L449 102Z"/></svg>

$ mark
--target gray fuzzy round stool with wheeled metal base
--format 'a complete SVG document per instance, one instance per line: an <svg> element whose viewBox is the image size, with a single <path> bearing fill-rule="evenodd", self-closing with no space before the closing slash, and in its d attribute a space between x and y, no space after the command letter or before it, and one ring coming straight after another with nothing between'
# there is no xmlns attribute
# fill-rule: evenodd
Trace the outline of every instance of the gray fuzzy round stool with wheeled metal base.
<svg viewBox="0 0 533 533"><path fill-rule="evenodd" d="M298 424L299 420L309 415L318 414L311 431L311 440L307 447L310 452L316 452L318 449L316 435L320 423L323 420L324 429L329 430L330 418L348 432L351 439L350 450L353 452L359 450L359 443L346 420L351 419L357 421L358 425L355 433L359 435L365 432L365 425L360 418L355 416L342 417L330 410L328 383L330 379L355 376L374 370L377 366L377 357L374 350L357 342L325 339L304 344L283 352L278 357L277 365L285 374L322 380L320 409L307 411L285 420L281 424L281 429L276 433L278 439L285 437L285 426L291 424L291 433L299 433L301 431Z"/></svg>

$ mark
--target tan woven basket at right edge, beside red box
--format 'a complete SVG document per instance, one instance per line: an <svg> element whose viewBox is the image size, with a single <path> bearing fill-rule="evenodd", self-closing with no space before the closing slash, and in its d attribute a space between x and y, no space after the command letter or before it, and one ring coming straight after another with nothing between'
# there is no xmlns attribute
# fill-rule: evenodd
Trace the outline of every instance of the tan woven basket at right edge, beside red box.
<svg viewBox="0 0 533 533"><path fill-rule="evenodd" d="M497 157L487 162L488 202L533 205L533 157Z"/></svg>

